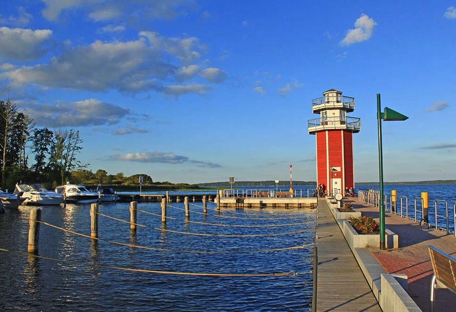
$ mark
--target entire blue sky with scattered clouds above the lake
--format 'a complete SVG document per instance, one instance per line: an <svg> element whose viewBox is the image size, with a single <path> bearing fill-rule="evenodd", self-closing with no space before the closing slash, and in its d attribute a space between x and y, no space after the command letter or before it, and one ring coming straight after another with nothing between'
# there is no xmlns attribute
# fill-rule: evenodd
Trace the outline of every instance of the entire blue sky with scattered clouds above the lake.
<svg viewBox="0 0 456 312"><path fill-rule="evenodd" d="M17 0L0 98L78 129L88 169L155 181L315 180L311 100L355 98L355 181L456 178L456 0Z"/></svg>

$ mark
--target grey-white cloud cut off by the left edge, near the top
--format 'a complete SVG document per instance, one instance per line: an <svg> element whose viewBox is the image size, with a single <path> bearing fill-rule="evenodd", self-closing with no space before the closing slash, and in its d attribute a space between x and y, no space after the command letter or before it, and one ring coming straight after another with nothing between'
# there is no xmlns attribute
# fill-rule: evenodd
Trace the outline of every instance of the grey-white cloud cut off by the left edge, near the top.
<svg viewBox="0 0 456 312"><path fill-rule="evenodd" d="M0 27L0 58L30 61L47 54L53 42L51 30Z"/></svg>

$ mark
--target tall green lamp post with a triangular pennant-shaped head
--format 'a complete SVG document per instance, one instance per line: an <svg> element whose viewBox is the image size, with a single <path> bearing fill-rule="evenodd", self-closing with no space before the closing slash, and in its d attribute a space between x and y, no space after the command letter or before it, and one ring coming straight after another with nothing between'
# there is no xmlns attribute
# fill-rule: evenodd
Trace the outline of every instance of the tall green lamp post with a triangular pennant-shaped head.
<svg viewBox="0 0 456 312"><path fill-rule="evenodd" d="M381 120L385 121L400 121L408 119L407 116L402 115L390 108L385 107L384 112L380 108L380 94L377 93L377 122L378 122L378 172L380 177L380 250L385 250L385 207L383 203L383 152L381 144Z"/></svg>

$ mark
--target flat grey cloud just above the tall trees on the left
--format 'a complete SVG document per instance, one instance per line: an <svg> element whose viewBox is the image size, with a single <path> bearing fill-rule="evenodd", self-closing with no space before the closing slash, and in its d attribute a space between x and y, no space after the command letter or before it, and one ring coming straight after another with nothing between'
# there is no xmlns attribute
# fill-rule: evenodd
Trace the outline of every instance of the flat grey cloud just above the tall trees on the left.
<svg viewBox="0 0 456 312"><path fill-rule="evenodd" d="M59 101L56 105L18 102L33 121L44 127L74 127L116 124L130 110L96 99Z"/></svg>

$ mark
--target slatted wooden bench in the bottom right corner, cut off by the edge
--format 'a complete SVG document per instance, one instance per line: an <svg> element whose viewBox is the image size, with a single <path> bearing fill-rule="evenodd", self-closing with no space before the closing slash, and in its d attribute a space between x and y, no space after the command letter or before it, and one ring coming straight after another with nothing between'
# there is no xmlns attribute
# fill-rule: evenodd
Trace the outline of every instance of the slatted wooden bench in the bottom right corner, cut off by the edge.
<svg viewBox="0 0 456 312"><path fill-rule="evenodd" d="M430 311L434 311L436 289L447 288L456 294L456 258L429 245L430 262L434 274L430 282Z"/></svg>

